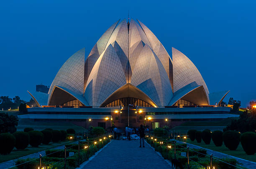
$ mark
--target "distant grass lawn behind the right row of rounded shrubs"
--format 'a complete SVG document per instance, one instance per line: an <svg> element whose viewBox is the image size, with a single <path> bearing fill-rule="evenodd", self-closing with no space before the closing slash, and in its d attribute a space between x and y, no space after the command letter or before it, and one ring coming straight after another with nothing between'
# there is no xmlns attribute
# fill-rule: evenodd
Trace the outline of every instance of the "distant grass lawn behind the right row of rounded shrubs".
<svg viewBox="0 0 256 169"><path fill-rule="evenodd" d="M171 130L175 132L180 132L181 134L186 134L187 131L189 131L190 129L195 129L198 131L203 131L204 129L209 129L210 131L215 131L215 130L220 130L223 131L223 129L226 126L177 126L177 127L173 127Z"/></svg>

